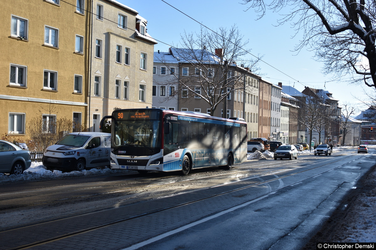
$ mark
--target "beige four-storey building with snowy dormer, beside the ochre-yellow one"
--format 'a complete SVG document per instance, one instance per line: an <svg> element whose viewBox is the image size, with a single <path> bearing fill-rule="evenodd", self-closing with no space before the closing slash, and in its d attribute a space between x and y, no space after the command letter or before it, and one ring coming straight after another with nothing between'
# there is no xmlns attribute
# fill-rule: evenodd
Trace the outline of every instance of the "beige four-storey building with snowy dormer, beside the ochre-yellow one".
<svg viewBox="0 0 376 250"><path fill-rule="evenodd" d="M88 124L115 109L152 107L155 40L138 12L112 0L94 0Z"/></svg>

